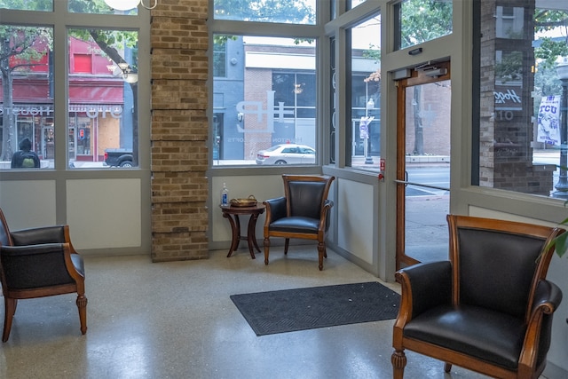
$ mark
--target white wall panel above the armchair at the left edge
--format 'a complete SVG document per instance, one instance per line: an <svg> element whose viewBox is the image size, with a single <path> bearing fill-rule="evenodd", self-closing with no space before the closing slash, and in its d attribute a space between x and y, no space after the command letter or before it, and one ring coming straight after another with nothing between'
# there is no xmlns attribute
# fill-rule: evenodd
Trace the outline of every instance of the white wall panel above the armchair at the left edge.
<svg viewBox="0 0 568 379"><path fill-rule="evenodd" d="M0 207L10 230L55 225L55 181L0 181Z"/></svg>

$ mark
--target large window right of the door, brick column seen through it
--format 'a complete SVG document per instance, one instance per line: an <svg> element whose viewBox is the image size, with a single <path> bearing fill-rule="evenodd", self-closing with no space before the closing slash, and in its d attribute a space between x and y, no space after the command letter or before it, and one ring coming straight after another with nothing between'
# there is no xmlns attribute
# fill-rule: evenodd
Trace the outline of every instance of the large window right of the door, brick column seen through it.
<svg viewBox="0 0 568 379"><path fill-rule="evenodd" d="M568 4L558 6L478 6L474 185L568 198Z"/></svg>

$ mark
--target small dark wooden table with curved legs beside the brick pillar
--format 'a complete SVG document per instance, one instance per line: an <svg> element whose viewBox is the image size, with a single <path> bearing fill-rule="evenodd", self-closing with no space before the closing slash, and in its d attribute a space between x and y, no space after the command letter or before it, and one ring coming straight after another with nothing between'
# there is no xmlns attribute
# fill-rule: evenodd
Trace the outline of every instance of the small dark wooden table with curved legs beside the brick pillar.
<svg viewBox="0 0 568 379"><path fill-rule="evenodd" d="M231 242L231 249L229 249L227 257L231 257L233 251L239 249L239 243L244 240L248 241L250 257L255 259L254 249L260 253L260 249L256 243L256 219L258 215L264 213L264 204L256 204L252 207L233 207L232 205L221 205L220 207L223 212L223 217L229 220L231 229L233 230L233 241ZM250 216L248 219L247 235L245 236L241 236L241 222L239 220L239 216L243 215Z"/></svg>

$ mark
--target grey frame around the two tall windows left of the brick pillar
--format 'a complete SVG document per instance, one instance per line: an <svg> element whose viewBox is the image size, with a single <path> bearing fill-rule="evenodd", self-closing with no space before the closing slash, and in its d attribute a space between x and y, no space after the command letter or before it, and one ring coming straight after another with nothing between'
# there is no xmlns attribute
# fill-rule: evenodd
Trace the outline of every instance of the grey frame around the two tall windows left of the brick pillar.
<svg viewBox="0 0 568 379"><path fill-rule="evenodd" d="M54 28L53 50L58 53L51 54L53 60L53 109L51 118L53 122L53 134L55 138L54 165L50 170L41 170L48 177L63 176L70 171L67 164L67 125L70 122L70 110L67 109L67 77L69 75L69 48L67 43L67 28L105 28L114 30L136 30L138 31L138 75L140 77L150 77L150 12L140 8L138 15L121 14L86 14L67 12L67 0L54 2L53 12L43 11L17 11L2 10L2 19L10 20L13 25L46 26ZM4 23L6 23L4 21ZM61 78L65 78L61 80ZM142 178L142 171L150 168L150 104L151 83L150 81L139 81L138 101L142 104L138 107L138 167L129 170L127 177ZM146 113L146 114L145 114ZM43 130L42 130L43 132ZM106 167L77 170L84 172L78 178L90 177L114 177L113 170ZM35 172L38 172L37 170ZM100 174L98 173L100 172ZM12 170L2 170L3 178L26 177L28 172L15 172ZM14 177L15 175L15 177Z"/></svg>

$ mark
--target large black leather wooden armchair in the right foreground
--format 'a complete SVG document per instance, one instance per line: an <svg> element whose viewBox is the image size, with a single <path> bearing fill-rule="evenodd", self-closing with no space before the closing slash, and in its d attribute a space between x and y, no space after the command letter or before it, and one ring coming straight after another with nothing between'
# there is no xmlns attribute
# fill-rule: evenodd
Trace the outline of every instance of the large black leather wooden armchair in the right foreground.
<svg viewBox="0 0 568 379"><path fill-rule="evenodd" d="M538 378L552 316L562 300L546 274L564 231L480 217L447 217L450 261L396 274L402 297L391 362L402 379L405 349L499 378Z"/></svg>

